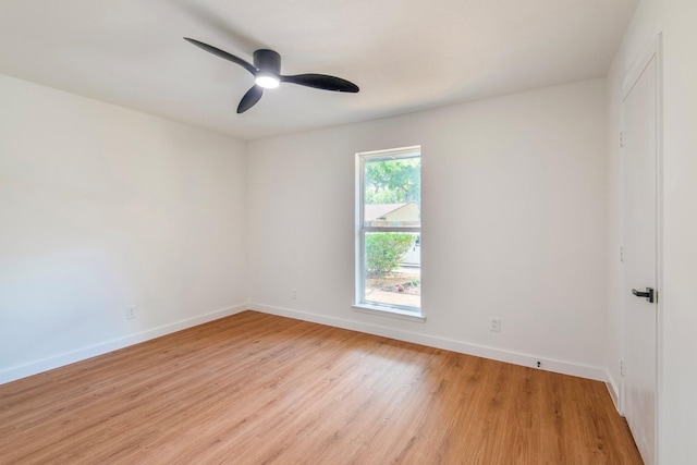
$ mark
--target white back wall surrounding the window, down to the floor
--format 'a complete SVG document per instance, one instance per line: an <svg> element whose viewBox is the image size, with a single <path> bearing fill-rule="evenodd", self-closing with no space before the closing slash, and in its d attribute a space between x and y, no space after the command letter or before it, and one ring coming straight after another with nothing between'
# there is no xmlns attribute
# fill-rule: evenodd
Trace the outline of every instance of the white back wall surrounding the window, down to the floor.
<svg viewBox="0 0 697 465"><path fill-rule="evenodd" d="M250 143L252 307L604 379L606 100L598 79ZM425 323L351 308L354 154L411 145Z"/></svg>

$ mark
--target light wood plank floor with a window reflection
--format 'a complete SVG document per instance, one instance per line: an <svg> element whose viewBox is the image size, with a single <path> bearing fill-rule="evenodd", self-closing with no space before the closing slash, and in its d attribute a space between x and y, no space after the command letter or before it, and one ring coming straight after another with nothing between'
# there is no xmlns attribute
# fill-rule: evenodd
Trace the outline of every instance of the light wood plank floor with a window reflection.
<svg viewBox="0 0 697 465"><path fill-rule="evenodd" d="M1 464L640 464L603 383L255 311L0 386Z"/></svg>

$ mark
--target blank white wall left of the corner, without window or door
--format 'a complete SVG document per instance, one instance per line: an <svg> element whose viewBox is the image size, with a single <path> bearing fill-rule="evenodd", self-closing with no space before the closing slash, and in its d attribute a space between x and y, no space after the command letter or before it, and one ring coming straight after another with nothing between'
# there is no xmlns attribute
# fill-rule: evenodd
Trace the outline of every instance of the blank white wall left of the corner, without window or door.
<svg viewBox="0 0 697 465"><path fill-rule="evenodd" d="M247 302L244 144L1 75L0 102L0 382Z"/></svg>

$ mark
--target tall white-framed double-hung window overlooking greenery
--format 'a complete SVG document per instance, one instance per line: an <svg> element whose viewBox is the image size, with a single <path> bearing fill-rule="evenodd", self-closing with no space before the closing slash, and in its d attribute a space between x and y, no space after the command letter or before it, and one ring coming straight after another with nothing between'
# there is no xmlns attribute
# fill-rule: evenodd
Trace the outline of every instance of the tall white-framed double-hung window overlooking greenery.
<svg viewBox="0 0 697 465"><path fill-rule="evenodd" d="M420 147L356 155L356 307L421 316Z"/></svg>

